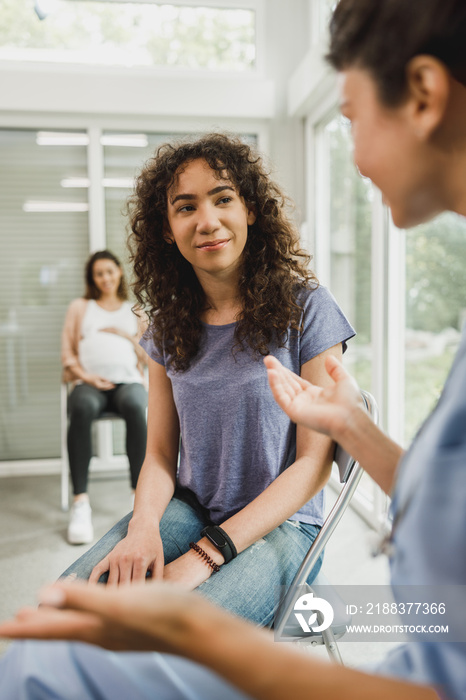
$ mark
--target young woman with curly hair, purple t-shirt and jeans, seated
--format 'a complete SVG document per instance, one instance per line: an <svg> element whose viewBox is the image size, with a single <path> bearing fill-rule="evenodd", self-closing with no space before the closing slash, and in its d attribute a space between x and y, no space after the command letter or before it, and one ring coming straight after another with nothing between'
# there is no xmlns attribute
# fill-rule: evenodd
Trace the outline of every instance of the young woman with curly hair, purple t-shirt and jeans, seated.
<svg viewBox="0 0 466 700"><path fill-rule="evenodd" d="M146 458L134 513L66 574L163 578L268 626L322 523L332 443L296 431L262 358L273 352L325 385L325 358L340 358L354 332L241 140L162 146L129 210L134 289L149 316Z"/></svg>

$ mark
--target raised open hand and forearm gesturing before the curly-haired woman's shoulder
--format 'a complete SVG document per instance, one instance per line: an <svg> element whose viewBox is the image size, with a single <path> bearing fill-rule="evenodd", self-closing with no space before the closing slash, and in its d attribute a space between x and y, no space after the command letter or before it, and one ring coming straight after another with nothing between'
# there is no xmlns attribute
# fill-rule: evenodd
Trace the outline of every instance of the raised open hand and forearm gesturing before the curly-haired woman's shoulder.
<svg viewBox="0 0 466 700"><path fill-rule="evenodd" d="M293 374L275 357L264 363L275 400L291 420L332 437L389 494L403 449L367 415L358 386L341 363L326 359L330 382L324 387Z"/></svg>

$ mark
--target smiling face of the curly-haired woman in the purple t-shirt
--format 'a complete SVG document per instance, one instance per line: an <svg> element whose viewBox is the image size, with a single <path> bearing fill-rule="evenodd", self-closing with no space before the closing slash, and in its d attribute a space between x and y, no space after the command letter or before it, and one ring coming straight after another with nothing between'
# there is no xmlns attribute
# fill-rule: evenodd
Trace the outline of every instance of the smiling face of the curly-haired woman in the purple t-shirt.
<svg viewBox="0 0 466 700"><path fill-rule="evenodd" d="M228 179L203 159L190 162L168 193L167 239L204 275L236 272L256 216Z"/></svg>

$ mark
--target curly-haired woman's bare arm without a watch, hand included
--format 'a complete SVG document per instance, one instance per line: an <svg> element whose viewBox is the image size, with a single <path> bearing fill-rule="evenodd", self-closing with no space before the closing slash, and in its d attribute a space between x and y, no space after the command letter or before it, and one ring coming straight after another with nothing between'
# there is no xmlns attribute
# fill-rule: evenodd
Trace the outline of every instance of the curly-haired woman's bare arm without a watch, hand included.
<svg viewBox="0 0 466 700"><path fill-rule="evenodd" d="M94 568L95 583L109 571L109 584L163 575L163 547L159 523L175 490L179 447L178 414L165 368L149 359L147 448L138 478L134 513L127 536Z"/></svg>

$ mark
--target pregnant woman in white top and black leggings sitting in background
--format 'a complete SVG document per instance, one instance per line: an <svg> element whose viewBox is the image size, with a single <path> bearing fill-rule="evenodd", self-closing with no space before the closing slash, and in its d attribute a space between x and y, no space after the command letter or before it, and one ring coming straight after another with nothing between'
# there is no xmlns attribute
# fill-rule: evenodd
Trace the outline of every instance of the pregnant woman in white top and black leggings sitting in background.
<svg viewBox="0 0 466 700"><path fill-rule="evenodd" d="M145 323L133 312L123 270L108 250L94 253L85 269L86 293L71 302L63 328L64 380L73 385L68 398L68 454L74 501L68 542L94 537L87 494L92 456L91 425L103 411L126 422L126 452L134 491L146 449L147 391L139 345Z"/></svg>

